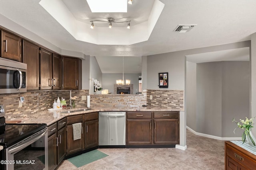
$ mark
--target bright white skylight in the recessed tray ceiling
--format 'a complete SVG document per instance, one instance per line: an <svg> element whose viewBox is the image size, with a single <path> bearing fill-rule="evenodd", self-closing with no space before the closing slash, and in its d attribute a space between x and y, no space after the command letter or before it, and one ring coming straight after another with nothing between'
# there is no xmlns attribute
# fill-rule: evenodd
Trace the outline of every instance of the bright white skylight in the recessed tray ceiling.
<svg viewBox="0 0 256 170"><path fill-rule="evenodd" d="M127 0L87 0L92 12L127 12Z"/></svg>

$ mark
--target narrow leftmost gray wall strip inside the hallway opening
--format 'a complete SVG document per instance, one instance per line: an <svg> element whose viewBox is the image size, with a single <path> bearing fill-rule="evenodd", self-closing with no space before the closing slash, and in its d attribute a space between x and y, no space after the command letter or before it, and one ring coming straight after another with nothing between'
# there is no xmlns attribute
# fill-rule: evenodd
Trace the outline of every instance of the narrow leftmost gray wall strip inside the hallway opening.
<svg viewBox="0 0 256 170"><path fill-rule="evenodd" d="M186 125L196 130L196 63L186 62Z"/></svg>

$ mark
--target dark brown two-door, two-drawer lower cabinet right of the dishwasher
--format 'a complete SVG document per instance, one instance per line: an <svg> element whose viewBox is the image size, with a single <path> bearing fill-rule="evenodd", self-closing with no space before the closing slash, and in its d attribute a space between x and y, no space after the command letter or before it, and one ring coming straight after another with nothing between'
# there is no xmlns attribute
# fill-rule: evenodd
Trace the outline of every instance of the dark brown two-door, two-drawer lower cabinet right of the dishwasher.
<svg viewBox="0 0 256 170"><path fill-rule="evenodd" d="M128 111L126 145L176 145L180 143L178 111ZM152 141L154 139L154 141Z"/></svg>

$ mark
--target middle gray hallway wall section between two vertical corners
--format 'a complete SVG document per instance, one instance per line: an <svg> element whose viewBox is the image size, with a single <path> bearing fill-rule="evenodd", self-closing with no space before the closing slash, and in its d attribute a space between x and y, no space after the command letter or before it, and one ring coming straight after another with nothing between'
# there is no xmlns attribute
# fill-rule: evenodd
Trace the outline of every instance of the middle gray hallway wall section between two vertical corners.
<svg viewBox="0 0 256 170"><path fill-rule="evenodd" d="M221 137L222 71L218 62L199 63L196 67L196 132Z"/></svg>

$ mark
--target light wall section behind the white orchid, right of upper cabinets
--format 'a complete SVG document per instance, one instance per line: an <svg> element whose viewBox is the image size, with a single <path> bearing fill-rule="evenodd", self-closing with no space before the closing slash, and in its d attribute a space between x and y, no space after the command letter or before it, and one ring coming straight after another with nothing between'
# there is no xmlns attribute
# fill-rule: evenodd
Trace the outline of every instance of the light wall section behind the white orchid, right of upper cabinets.
<svg viewBox="0 0 256 170"><path fill-rule="evenodd" d="M90 79L97 79L102 84L102 72L95 57L90 57ZM94 83L90 81L89 94L94 94Z"/></svg>

